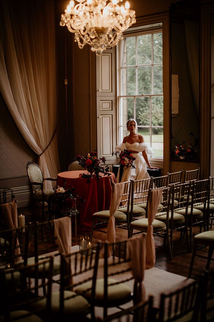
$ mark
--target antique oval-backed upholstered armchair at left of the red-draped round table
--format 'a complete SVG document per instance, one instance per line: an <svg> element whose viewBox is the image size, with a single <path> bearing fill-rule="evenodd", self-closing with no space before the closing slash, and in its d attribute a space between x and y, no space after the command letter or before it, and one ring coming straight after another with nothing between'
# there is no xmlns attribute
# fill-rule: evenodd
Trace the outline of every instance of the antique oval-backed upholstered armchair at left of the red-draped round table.
<svg viewBox="0 0 214 322"><path fill-rule="evenodd" d="M30 161L27 163L27 175L32 187L33 200L34 200L34 208L35 211L35 203L36 201L42 201L42 220L44 221L44 203L48 204L48 212L50 213L50 203L49 197L54 194L53 189L43 189L43 184L45 180L56 181L56 178L44 178L42 169L38 164Z"/></svg>

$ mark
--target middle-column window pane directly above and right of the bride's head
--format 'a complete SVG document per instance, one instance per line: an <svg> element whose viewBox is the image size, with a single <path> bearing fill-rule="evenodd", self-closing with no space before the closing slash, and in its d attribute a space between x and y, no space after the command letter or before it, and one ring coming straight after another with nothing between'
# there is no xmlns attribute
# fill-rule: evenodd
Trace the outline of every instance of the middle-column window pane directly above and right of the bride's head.
<svg viewBox="0 0 214 322"><path fill-rule="evenodd" d="M149 97L136 97L135 105L137 125L150 125Z"/></svg>

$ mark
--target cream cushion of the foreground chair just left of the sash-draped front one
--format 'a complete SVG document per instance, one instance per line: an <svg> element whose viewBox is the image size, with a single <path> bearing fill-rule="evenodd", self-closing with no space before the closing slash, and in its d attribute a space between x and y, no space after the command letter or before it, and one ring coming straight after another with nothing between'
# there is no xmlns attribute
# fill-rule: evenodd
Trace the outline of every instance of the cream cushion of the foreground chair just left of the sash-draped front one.
<svg viewBox="0 0 214 322"><path fill-rule="evenodd" d="M76 295L75 297L69 298L73 295ZM69 299L66 299L69 298ZM82 297L81 295L78 295L76 292L71 291L64 291L64 314L65 315L71 315L71 314L81 314L86 315L88 314L88 310L90 305L88 304L88 301ZM46 298L43 298L41 301L38 301L36 303L33 303L31 305L32 308L40 308L43 309L46 306ZM51 313L53 315L59 314L59 308L60 308L60 292L52 292L51 293Z"/></svg>

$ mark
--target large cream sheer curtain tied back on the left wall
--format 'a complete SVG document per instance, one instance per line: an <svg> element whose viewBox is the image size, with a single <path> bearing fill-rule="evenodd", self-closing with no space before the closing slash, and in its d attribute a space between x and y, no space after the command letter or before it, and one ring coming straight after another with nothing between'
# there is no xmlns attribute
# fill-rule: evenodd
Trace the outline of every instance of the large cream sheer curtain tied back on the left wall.
<svg viewBox="0 0 214 322"><path fill-rule="evenodd" d="M56 128L56 58L52 0L0 2L0 91L14 122L39 156ZM56 134L39 157L44 177L60 170ZM45 182L45 188L51 188ZM49 186L47 186L49 185Z"/></svg>

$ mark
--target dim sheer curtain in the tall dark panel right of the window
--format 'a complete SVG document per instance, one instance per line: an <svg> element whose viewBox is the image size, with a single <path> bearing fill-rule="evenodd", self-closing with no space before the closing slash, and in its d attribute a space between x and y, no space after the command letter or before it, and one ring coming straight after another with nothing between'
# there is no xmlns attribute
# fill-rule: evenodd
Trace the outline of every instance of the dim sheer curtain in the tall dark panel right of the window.
<svg viewBox="0 0 214 322"><path fill-rule="evenodd" d="M199 24L185 20L184 27L192 97L199 117Z"/></svg>

